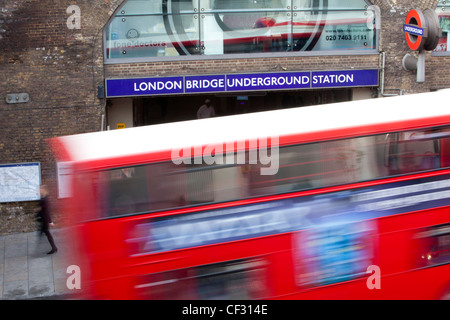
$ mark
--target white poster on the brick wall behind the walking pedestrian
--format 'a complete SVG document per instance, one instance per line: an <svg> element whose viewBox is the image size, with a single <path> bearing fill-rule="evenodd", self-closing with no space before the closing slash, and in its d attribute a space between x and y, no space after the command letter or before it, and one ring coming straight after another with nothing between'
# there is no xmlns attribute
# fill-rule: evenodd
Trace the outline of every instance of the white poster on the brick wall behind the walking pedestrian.
<svg viewBox="0 0 450 320"><path fill-rule="evenodd" d="M39 200L40 184L39 163L0 165L0 202Z"/></svg>

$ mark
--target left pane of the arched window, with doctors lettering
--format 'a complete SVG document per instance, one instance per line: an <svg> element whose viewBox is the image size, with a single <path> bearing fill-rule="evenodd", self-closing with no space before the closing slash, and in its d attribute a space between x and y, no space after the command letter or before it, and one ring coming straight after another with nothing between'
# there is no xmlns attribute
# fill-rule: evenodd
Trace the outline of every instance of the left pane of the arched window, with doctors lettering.
<svg viewBox="0 0 450 320"><path fill-rule="evenodd" d="M143 10L139 11L143 3ZM170 21L167 15L169 8L155 3L129 0L119 10L105 31L107 59L199 53L198 20L193 19L192 2L174 3L177 6L171 6L170 9L177 14L170 15Z"/></svg>

